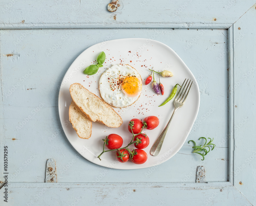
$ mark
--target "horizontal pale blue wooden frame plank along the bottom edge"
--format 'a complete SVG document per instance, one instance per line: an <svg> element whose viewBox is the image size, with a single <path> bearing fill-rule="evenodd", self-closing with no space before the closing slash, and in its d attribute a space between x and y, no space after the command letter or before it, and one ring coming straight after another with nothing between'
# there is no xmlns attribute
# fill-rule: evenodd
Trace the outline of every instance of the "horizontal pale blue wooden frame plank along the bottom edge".
<svg viewBox="0 0 256 206"><path fill-rule="evenodd" d="M198 187L197 187L198 186ZM3 189L3 188L2 188ZM1 191L2 191L1 189ZM230 184L11 183L5 205L244 205ZM167 195L168 194L168 195Z"/></svg>

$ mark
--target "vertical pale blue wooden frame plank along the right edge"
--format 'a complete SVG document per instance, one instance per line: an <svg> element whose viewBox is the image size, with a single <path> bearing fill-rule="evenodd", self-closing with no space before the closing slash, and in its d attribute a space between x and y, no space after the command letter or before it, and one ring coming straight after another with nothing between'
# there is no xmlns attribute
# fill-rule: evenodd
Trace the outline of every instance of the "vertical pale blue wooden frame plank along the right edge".
<svg viewBox="0 0 256 206"><path fill-rule="evenodd" d="M256 204L256 4L234 25L234 186Z"/></svg>

